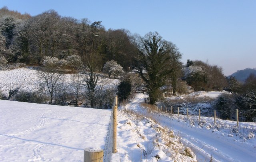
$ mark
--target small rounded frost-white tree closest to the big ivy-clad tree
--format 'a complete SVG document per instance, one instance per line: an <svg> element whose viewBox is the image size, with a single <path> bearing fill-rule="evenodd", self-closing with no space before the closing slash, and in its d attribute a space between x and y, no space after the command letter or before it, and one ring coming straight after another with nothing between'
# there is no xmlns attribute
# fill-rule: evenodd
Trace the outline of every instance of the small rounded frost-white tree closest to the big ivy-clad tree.
<svg viewBox="0 0 256 162"><path fill-rule="evenodd" d="M117 62L111 60L104 64L103 72L108 73L108 78L110 78L111 74L114 74L114 79L116 79L118 75L124 73L124 70L122 66L117 64Z"/></svg>

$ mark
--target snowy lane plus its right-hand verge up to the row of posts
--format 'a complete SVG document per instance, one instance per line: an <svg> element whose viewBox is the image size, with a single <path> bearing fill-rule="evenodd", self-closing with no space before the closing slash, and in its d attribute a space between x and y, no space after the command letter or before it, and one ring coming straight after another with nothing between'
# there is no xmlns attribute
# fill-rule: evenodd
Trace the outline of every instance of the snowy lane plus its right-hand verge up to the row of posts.
<svg viewBox="0 0 256 162"><path fill-rule="evenodd" d="M173 130L181 141L196 154L198 161L254 162L256 159L256 123L236 122L198 116L170 115L163 112L149 113L141 108L144 94L126 106L144 115L152 116L161 126Z"/></svg>

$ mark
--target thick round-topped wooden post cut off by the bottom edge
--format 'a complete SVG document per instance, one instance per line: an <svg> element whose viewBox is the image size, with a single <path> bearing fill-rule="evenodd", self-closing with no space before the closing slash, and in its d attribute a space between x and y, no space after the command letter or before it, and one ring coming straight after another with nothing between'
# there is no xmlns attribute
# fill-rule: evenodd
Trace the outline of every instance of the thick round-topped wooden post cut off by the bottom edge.
<svg viewBox="0 0 256 162"><path fill-rule="evenodd" d="M96 148L85 148L84 162L103 162L103 150Z"/></svg>

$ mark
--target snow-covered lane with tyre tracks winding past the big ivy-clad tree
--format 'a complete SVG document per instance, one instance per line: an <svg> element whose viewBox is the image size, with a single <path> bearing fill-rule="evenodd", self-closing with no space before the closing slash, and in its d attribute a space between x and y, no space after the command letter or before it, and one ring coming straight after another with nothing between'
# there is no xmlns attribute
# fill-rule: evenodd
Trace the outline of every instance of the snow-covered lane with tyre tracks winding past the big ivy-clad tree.
<svg viewBox="0 0 256 162"><path fill-rule="evenodd" d="M140 108L141 102L144 102L144 95L138 94L127 108L146 114ZM182 117L187 118L186 116ZM161 126L174 130L176 135L181 137L182 143L192 148L198 161L210 161L210 156L214 161L225 162L254 162L256 159L255 139L251 140L254 143L250 143L251 141L241 142L224 133L196 128L182 120L176 120L176 118L163 114L161 116L153 114L153 118Z"/></svg>

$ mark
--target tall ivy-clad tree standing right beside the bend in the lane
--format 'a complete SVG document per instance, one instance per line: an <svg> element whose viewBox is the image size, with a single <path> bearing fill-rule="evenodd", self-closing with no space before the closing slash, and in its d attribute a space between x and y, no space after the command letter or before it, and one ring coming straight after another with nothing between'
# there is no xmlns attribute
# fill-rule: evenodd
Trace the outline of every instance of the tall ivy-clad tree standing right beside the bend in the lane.
<svg viewBox="0 0 256 162"><path fill-rule="evenodd" d="M156 104L162 94L160 88L172 72L170 43L163 40L158 32L149 32L140 40L138 50L136 69L146 82L149 103Z"/></svg>

